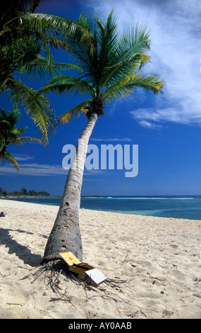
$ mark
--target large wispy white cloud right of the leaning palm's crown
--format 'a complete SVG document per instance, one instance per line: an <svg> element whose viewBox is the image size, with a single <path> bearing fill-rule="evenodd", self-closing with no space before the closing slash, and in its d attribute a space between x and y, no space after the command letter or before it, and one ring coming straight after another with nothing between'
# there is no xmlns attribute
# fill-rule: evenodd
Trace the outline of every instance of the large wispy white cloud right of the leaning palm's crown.
<svg viewBox="0 0 201 333"><path fill-rule="evenodd" d="M144 70L159 74L166 85L155 98L157 111L135 119L141 125L142 120L201 125L200 0L95 0L88 5L104 19L114 8L121 31L137 21L151 30L152 62Z"/></svg>

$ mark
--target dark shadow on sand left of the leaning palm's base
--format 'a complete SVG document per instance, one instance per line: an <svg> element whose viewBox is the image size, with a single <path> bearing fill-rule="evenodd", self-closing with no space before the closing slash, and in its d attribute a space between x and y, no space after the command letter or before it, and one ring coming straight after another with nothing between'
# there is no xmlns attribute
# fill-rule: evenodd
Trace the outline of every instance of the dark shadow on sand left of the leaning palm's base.
<svg viewBox="0 0 201 333"><path fill-rule="evenodd" d="M15 253L19 259L24 261L24 264L28 264L32 267L39 266L42 256L39 254L32 254L28 247L19 244L13 236L9 235L9 231L24 232L26 234L33 234L33 232L26 232L24 230L13 230L0 228L0 244L5 244L9 248L8 254ZM43 237L46 237L43 235Z"/></svg>

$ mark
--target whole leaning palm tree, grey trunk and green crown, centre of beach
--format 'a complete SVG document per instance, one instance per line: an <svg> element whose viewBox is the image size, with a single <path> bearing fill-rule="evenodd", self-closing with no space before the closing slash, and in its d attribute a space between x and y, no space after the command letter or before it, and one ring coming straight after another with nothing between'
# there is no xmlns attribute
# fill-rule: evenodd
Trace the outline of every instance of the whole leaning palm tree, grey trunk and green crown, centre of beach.
<svg viewBox="0 0 201 333"><path fill-rule="evenodd" d="M84 18L83 18L84 20ZM42 92L59 94L87 94L89 98L59 117L68 123L73 115L84 113L87 124L80 135L75 158L68 172L58 215L44 251L42 263L59 259L59 252L72 251L83 260L83 247L79 227L80 191L87 153L87 144L99 115L104 115L106 103L129 96L143 88L158 94L163 84L157 75L143 74L141 69L150 62L150 33L145 27L133 28L118 37L113 11L106 23L93 17L95 26L87 22L92 45L78 43L72 50L78 66L83 69L77 77L58 76L44 86Z"/></svg>

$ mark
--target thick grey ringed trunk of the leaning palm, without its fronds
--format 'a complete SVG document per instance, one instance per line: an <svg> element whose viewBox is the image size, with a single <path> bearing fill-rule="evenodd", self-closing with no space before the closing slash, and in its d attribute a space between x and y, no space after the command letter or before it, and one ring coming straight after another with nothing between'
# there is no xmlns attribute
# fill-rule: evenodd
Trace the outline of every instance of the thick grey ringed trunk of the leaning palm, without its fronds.
<svg viewBox="0 0 201 333"><path fill-rule="evenodd" d="M85 125L78 140L75 157L66 179L59 212L44 250L42 264L47 261L60 259L59 252L66 251L72 251L80 261L83 260L83 246L79 225L80 193L83 184L87 145L97 117L97 113L90 115L87 125Z"/></svg>

